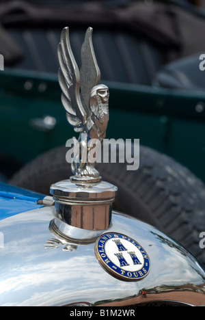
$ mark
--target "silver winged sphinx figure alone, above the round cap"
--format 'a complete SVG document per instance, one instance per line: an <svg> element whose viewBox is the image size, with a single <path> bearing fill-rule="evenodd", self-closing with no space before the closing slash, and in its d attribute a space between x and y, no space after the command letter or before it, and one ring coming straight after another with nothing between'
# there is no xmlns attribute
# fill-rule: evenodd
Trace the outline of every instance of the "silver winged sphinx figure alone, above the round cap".
<svg viewBox="0 0 205 320"><path fill-rule="evenodd" d="M61 101L66 109L66 118L74 131L80 132L78 142L89 146L91 139L102 142L105 138L109 120L109 89L100 83L100 70L96 62L92 45L92 28L85 33L85 40L81 47L81 69L74 59L70 46L69 29L61 32L58 46L59 72L58 79L61 86ZM87 154L95 146L87 148ZM98 146L99 147L99 146ZM82 150L80 147L79 150ZM97 148L96 148L97 150ZM74 178L96 181L99 173L94 168L94 161L85 157L81 152L74 157L71 170Z"/></svg>

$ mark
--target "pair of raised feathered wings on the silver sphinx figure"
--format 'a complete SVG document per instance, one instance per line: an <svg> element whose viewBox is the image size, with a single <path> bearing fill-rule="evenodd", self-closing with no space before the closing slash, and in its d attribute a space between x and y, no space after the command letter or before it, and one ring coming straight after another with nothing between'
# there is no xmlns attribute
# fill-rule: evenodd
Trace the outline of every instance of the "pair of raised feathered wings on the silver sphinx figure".
<svg viewBox="0 0 205 320"><path fill-rule="evenodd" d="M92 45L92 28L88 28L81 49L81 70L74 59L70 46L69 29L61 32L58 49L59 85L62 90L61 102L66 109L66 118L74 131L83 131L85 123L92 116L89 98L92 88L100 81L100 70Z"/></svg>

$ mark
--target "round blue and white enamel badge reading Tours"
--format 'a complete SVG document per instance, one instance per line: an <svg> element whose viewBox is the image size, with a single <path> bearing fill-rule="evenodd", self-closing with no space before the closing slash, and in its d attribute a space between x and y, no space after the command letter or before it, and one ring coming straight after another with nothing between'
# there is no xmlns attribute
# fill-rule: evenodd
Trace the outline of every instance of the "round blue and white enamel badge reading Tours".
<svg viewBox="0 0 205 320"><path fill-rule="evenodd" d="M112 276L126 281L141 280L150 271L150 259L135 240L120 233L105 233L96 241L98 262Z"/></svg>

